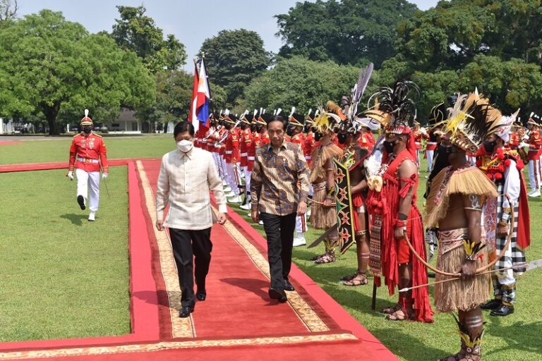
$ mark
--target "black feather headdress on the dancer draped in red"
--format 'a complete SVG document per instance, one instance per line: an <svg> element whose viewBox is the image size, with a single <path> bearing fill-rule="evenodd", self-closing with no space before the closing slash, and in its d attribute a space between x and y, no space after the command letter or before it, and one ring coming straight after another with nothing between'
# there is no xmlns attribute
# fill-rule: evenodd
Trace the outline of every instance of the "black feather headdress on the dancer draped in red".
<svg viewBox="0 0 542 361"><path fill-rule="evenodd" d="M382 87L373 94L379 99L375 109L366 111L370 118L380 121L386 133L408 134L412 126L416 106L410 99L411 90L419 94L418 86L410 81L397 81L393 87Z"/></svg>

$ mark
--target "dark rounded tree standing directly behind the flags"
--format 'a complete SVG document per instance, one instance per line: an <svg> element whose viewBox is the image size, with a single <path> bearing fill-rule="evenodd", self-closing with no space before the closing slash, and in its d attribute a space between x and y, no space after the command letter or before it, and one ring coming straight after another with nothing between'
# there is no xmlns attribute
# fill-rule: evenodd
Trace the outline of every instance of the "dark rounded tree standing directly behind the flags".
<svg viewBox="0 0 542 361"><path fill-rule="evenodd" d="M205 53L205 65L212 85L226 90L227 104L234 106L243 89L270 65L270 54L263 47L257 32L222 30L205 39L200 51Z"/></svg>

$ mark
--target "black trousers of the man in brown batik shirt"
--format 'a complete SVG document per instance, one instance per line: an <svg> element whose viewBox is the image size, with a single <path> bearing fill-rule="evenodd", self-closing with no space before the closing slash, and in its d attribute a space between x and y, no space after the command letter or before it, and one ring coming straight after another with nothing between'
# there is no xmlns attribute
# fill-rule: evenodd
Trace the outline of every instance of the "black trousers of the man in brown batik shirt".
<svg viewBox="0 0 542 361"><path fill-rule="evenodd" d="M271 274L271 287L284 289L291 269L291 249L294 245L296 213L287 216L260 213L267 236L267 259Z"/></svg>

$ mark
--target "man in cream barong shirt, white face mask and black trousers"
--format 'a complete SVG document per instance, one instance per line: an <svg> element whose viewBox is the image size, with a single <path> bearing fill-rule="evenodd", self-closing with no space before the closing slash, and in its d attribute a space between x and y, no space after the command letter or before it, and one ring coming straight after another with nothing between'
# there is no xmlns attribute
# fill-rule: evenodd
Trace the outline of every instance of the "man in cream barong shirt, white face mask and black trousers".
<svg viewBox="0 0 542 361"><path fill-rule="evenodd" d="M209 190L218 204L218 223L226 222L226 196L212 154L193 147L194 127L183 121L174 128L177 149L162 157L156 186L156 228L169 228L171 246L179 272L181 312L188 317L194 310L195 298L207 297L205 276L211 262L212 209ZM169 212L164 221L164 208ZM193 257L195 261L193 262ZM194 298L194 272L198 290Z"/></svg>

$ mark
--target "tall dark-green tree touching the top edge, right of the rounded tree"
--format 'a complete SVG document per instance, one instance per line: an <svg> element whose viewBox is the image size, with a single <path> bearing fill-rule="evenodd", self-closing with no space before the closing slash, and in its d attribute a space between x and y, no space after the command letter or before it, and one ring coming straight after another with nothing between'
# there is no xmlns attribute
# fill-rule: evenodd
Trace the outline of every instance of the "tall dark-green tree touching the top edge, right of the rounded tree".
<svg viewBox="0 0 542 361"><path fill-rule="evenodd" d="M395 55L397 25L418 8L406 0L317 0L298 2L289 13L275 16L285 42L280 56L377 68Z"/></svg>

